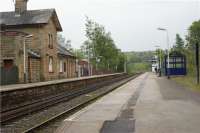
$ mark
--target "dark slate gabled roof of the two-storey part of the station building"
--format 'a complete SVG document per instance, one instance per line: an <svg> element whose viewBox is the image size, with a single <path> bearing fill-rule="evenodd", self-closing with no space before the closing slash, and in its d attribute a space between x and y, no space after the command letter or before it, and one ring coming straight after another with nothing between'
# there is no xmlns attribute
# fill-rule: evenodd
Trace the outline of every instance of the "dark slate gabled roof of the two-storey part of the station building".
<svg viewBox="0 0 200 133"><path fill-rule="evenodd" d="M51 18L56 25L56 29L62 31L55 9L27 10L21 14L16 14L16 12L0 12L0 25L47 24Z"/></svg>

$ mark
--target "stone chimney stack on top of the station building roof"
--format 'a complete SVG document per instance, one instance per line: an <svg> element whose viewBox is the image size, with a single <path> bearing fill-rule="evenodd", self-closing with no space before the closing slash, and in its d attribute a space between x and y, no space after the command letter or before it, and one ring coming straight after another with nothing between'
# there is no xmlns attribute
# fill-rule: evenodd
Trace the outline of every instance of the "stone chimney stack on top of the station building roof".
<svg viewBox="0 0 200 133"><path fill-rule="evenodd" d="M15 0L15 12L21 14L27 11L28 0Z"/></svg>

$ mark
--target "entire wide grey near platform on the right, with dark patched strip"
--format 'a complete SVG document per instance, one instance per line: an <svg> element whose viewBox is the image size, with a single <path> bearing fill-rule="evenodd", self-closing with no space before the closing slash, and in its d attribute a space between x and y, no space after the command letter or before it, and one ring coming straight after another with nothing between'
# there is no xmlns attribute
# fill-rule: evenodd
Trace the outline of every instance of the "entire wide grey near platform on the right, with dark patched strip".
<svg viewBox="0 0 200 133"><path fill-rule="evenodd" d="M56 133L199 133L200 94L145 73L66 118Z"/></svg>

